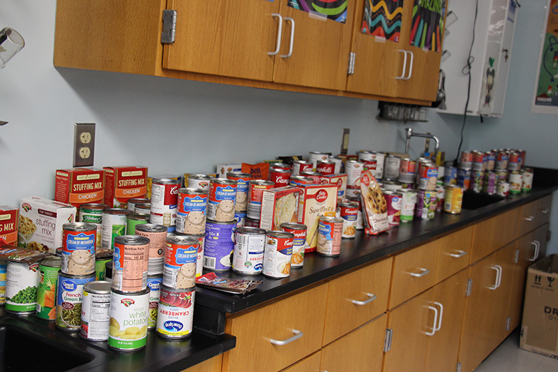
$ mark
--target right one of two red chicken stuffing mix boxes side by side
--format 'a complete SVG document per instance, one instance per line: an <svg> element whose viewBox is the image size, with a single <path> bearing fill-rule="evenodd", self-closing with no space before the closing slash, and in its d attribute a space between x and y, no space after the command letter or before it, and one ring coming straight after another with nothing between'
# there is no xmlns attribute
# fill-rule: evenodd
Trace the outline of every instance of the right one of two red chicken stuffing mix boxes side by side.
<svg viewBox="0 0 558 372"><path fill-rule="evenodd" d="M126 208L128 199L145 198L147 167L105 167L105 204Z"/></svg>

